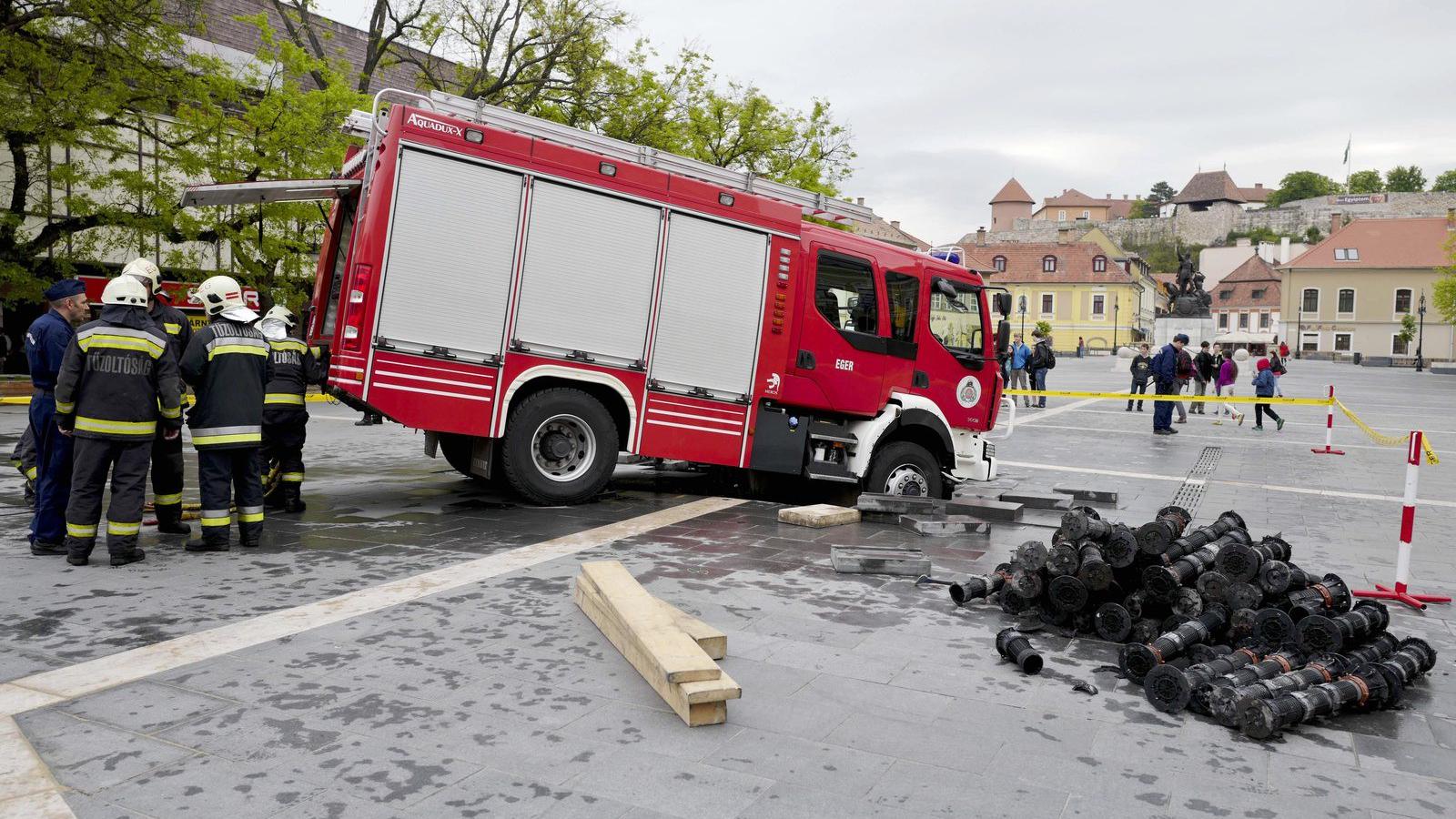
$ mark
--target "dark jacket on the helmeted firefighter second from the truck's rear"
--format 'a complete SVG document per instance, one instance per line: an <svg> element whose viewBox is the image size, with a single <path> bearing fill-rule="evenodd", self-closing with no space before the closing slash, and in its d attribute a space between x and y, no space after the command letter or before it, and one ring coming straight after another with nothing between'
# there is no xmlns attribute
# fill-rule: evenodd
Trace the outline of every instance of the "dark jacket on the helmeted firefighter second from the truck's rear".
<svg viewBox="0 0 1456 819"><path fill-rule="evenodd" d="M192 446L259 446L271 369L268 340L256 326L217 316L194 332L182 353L182 379L197 392L186 415Z"/></svg>

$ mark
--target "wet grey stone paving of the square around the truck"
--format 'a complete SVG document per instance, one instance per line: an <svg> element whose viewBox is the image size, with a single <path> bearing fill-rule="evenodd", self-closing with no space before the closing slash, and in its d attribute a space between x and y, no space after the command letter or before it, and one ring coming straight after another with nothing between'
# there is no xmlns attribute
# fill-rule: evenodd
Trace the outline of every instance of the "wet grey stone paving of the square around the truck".
<svg viewBox="0 0 1456 819"><path fill-rule="evenodd" d="M1063 358L1053 389L1121 389L1108 358ZM1289 395L1342 399L1388 433L1423 427L1412 584L1456 592L1456 379L1291 361ZM1153 437L1152 407L1024 411L990 488L1114 488L1111 519L1169 501L1220 447L1198 519L1236 509L1306 567L1353 586L1393 573L1404 458L1344 418L1348 455L1313 456L1322 408L1283 433L1190 418ZM397 426L314 410L310 503L256 551L188 555L144 533L146 563L70 568L25 551L19 481L0 478L0 681L246 621L677 506L711 478L623 468L613 494L531 509L421 455ZM23 426L0 410L0 446ZM1099 475L1069 469L1117 471ZM1306 493L1262 488L1307 490ZM188 484L189 500L195 481ZM785 498L794 500L794 498ZM834 574L831 545L926 548L936 573L981 573L1050 529L990 541L894 525L804 529L750 501L453 592L19 714L77 816L1444 816L1456 806L1456 618L1392 609L1437 669L1396 711L1257 743L1155 711L1096 670L1115 647L1042 632L1040 676L997 662L999 611L957 611L910 579ZM724 726L686 729L571 603L581 560L616 558L724 628L744 688ZM1089 697L1075 679L1099 688ZM0 804L0 813L4 813Z"/></svg>

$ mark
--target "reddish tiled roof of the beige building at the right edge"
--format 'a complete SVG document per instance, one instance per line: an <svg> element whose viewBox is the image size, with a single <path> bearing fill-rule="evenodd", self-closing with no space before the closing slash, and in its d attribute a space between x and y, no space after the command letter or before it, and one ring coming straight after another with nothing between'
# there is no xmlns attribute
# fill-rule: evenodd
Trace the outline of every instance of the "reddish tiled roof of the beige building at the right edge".
<svg viewBox="0 0 1456 819"><path fill-rule="evenodd" d="M1300 254L1289 270L1405 270L1452 264L1446 243L1456 236L1456 226L1444 217L1431 219L1357 219L1324 242ZM1357 252L1357 259L1335 258L1337 251Z"/></svg>

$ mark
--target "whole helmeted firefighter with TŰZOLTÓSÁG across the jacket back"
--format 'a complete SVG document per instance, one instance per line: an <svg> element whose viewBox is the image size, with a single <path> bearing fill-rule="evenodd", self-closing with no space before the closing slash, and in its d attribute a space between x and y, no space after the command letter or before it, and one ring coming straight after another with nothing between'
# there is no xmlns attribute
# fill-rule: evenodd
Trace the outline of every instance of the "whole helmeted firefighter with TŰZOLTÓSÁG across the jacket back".
<svg viewBox="0 0 1456 819"><path fill-rule="evenodd" d="M55 382L55 423L76 440L66 506L66 563L86 565L96 546L111 475L106 551L112 565L146 558L137 548L147 463L157 427L181 436L178 363L147 315L147 287L130 275L106 283L100 318L82 325ZM160 420L160 424L159 424Z"/></svg>

